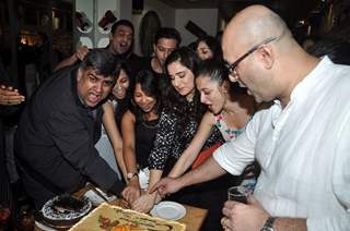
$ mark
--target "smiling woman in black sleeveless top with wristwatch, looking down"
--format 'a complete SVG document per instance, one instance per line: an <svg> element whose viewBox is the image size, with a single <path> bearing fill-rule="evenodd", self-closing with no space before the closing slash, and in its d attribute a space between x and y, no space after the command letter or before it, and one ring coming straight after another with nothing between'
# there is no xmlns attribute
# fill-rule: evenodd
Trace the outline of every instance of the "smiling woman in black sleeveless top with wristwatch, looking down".
<svg viewBox="0 0 350 231"><path fill-rule="evenodd" d="M135 80L133 104L121 121L122 156L128 186L124 197L132 203L148 190L148 158L153 148L162 109L159 77L151 71L141 71Z"/></svg>

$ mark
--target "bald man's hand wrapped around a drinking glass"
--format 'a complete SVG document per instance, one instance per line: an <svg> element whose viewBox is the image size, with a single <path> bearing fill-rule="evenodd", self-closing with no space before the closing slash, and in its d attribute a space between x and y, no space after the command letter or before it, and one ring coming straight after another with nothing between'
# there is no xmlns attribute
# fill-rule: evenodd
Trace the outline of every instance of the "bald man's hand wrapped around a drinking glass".
<svg viewBox="0 0 350 231"><path fill-rule="evenodd" d="M222 212L224 217L221 219L221 224L226 231L260 230L269 217L253 195L248 197L248 205L234 200L225 202Z"/></svg>

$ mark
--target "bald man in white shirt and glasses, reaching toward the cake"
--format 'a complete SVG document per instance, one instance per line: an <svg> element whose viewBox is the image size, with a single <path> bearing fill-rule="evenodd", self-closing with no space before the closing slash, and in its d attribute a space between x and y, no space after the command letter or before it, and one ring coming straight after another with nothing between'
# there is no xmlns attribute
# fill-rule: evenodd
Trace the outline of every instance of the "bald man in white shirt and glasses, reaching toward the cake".
<svg viewBox="0 0 350 231"><path fill-rule="evenodd" d="M257 159L254 196L247 205L225 203L225 230L350 230L350 66L306 53L261 5L235 15L222 48L231 81L275 105L201 167L152 190L164 195L225 172L241 174Z"/></svg>

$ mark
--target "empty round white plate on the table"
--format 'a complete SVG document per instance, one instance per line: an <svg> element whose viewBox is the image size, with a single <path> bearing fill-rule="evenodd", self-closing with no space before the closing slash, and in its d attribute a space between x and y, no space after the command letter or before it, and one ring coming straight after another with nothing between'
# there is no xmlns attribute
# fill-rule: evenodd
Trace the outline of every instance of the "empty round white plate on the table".
<svg viewBox="0 0 350 231"><path fill-rule="evenodd" d="M175 202L161 202L150 211L153 217L164 218L167 220L178 220L185 217L186 208Z"/></svg>

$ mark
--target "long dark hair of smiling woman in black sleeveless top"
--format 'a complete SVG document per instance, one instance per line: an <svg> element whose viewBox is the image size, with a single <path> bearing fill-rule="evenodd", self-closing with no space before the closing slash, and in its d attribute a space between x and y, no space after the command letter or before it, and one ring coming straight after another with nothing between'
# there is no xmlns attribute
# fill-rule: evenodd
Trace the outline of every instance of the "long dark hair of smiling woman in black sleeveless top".
<svg viewBox="0 0 350 231"><path fill-rule="evenodd" d="M160 114L162 110L162 99L159 89L159 77L155 76L151 71L140 71L136 75L133 86L136 86L136 84L140 84L143 93L156 100L156 104L154 105L154 108L152 110L155 110L155 113ZM135 114L137 122L144 121L144 111L137 104L130 105L130 111Z"/></svg>

